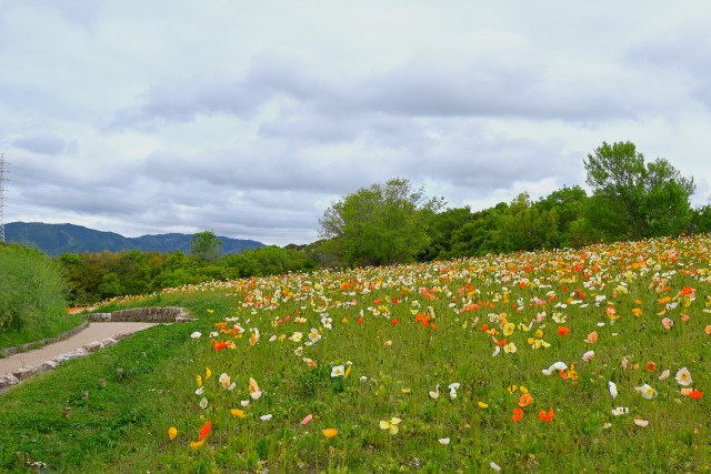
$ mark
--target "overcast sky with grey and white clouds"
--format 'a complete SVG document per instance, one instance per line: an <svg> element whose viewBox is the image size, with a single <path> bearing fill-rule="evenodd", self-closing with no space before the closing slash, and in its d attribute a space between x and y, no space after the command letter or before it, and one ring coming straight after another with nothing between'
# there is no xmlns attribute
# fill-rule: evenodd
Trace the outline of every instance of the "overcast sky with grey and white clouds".
<svg viewBox="0 0 711 474"><path fill-rule="evenodd" d="M711 2L0 0L4 222L318 239L407 178L584 186L632 141L711 193Z"/></svg>

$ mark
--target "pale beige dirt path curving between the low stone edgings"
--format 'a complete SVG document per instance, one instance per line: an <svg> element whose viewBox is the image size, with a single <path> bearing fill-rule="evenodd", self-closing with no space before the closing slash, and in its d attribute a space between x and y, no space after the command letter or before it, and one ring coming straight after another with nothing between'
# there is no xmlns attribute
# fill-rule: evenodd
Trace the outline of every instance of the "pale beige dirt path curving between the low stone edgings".
<svg viewBox="0 0 711 474"><path fill-rule="evenodd" d="M133 334L137 331L154 325L156 323L91 323L84 330L63 341L0 359L0 376L22 367L40 365L96 341L106 340L107 337L119 340L128 334Z"/></svg>

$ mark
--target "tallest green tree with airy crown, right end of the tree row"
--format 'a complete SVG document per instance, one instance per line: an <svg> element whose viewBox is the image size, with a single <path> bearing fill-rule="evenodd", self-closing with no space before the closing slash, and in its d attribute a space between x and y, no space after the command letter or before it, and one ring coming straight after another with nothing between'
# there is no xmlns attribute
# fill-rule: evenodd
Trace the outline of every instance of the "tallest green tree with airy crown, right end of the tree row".
<svg viewBox="0 0 711 474"><path fill-rule="evenodd" d="M632 142L602 145L584 160L593 202L585 218L602 238L642 239L684 232L692 216L693 179L667 160L651 163Z"/></svg>

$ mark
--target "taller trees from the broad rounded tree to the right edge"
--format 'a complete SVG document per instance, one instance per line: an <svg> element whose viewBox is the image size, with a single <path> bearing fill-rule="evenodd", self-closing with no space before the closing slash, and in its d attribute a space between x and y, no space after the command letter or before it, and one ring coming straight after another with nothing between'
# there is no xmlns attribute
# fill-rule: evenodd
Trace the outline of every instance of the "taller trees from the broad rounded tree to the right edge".
<svg viewBox="0 0 711 474"><path fill-rule="evenodd" d="M477 212L442 211L442 199L425 199L408 180L373 184L326 211L317 260L382 265L711 231L711 208L691 208L693 179L665 159L647 162L634 143L603 142L584 167L591 195L565 186Z"/></svg>

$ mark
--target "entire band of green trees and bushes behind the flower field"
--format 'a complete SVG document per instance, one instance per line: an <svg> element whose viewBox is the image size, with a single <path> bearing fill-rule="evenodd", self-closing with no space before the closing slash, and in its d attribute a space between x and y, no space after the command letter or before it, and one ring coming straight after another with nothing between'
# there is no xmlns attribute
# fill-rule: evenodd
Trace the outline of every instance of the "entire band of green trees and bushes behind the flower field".
<svg viewBox="0 0 711 474"><path fill-rule="evenodd" d="M76 304L142 294L209 280L264 276L320 266L388 265L597 242L710 232L711 206L692 209L693 179L667 160L647 162L631 142L602 143L584 160L588 195L563 188L532 201L472 211L445 208L404 179L349 194L320 219L321 240L222 255L211 231L193 236L191 250L63 254L58 258Z"/></svg>

